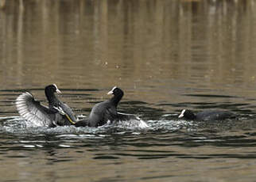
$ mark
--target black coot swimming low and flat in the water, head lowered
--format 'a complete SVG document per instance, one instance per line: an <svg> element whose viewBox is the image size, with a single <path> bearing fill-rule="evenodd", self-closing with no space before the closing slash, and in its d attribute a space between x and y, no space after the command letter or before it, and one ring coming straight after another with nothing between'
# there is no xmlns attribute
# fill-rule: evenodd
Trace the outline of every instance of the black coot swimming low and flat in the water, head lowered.
<svg viewBox="0 0 256 182"><path fill-rule="evenodd" d="M194 114L191 110L183 109L180 113L179 118L190 119L190 120L202 120L202 121L214 121L224 119L234 119L236 115L232 112L217 111L217 110L206 110Z"/></svg>

